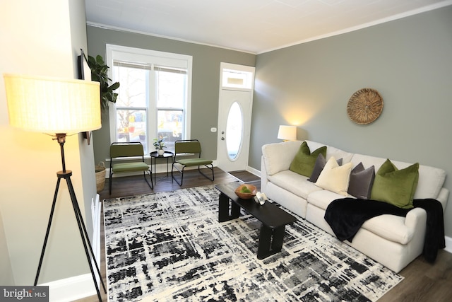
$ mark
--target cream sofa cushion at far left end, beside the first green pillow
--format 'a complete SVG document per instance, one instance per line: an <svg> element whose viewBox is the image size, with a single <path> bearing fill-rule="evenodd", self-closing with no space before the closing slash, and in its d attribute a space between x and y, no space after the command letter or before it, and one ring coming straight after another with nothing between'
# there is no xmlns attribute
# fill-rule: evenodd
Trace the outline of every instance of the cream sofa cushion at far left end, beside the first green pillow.
<svg viewBox="0 0 452 302"><path fill-rule="evenodd" d="M263 163L267 175L273 175L283 170L289 170L290 163L299 150L301 141L286 141L284 143L266 144L262 146Z"/></svg>

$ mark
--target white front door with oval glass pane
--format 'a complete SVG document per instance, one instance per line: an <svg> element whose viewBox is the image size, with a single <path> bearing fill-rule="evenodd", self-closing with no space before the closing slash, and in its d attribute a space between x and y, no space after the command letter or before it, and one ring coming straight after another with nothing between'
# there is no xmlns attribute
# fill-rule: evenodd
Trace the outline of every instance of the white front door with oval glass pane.
<svg viewBox="0 0 452 302"><path fill-rule="evenodd" d="M217 164L224 171L248 166L252 101L252 91L220 90Z"/></svg>

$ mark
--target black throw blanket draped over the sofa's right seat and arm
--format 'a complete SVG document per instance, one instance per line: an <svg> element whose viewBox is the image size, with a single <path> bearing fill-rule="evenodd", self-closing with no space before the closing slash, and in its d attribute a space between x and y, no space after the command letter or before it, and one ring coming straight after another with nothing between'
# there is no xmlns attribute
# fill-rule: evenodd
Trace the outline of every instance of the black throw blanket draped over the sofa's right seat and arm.
<svg viewBox="0 0 452 302"><path fill-rule="evenodd" d="M414 199L413 205L427 211L427 227L422 254L434 262L440 248L445 248L443 206L436 199ZM406 216L410 209L400 209L386 202L369 199L336 199L325 212L325 220L339 240L352 242L362 224L372 217L393 214Z"/></svg>

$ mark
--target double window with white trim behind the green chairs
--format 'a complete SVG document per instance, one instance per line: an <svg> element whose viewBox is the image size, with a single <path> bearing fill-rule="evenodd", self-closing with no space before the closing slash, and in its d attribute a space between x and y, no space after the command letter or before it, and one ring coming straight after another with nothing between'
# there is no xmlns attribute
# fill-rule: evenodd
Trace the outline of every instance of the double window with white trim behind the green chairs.
<svg viewBox="0 0 452 302"><path fill-rule="evenodd" d="M119 81L110 108L112 141L140 141L145 153L165 137L165 150L190 133L191 56L107 45L111 79Z"/></svg>

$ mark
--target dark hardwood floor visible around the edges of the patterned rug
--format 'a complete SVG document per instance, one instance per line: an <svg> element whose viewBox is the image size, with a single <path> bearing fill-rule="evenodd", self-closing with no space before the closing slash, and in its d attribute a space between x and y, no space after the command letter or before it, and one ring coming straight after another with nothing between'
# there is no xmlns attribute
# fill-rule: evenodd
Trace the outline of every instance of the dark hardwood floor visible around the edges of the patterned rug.
<svg viewBox="0 0 452 302"><path fill-rule="evenodd" d="M100 192L100 200L132 196L138 194L148 194L151 192L163 192L170 190L178 190L181 187L177 182L172 182L171 175L166 177L166 173L157 174L157 182L154 183L154 190L150 190L148 184L143 180L143 176L131 176L126 178L115 179L113 182L112 194L108 192L108 180L105 182L105 188ZM256 175L246 171L238 171L233 173L225 173L224 171L215 168L215 181L204 178L196 170L190 170L184 176L185 187L198 187L201 185L211 185L212 183L231 182L240 179L244 182L258 180ZM105 268L105 242L104 242L104 225L102 213L101 226L101 263L100 270L102 272L102 279L106 281ZM394 289L388 291L379 302L446 302L452 301L452 254L444 250L439 251L439 255L434 265L426 262L424 257L417 257L415 261L410 263L400 274L405 279L398 284ZM102 293L102 300L107 301L107 295ZM97 296L90 296L77 300L78 302L95 302Z"/></svg>

